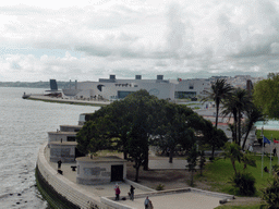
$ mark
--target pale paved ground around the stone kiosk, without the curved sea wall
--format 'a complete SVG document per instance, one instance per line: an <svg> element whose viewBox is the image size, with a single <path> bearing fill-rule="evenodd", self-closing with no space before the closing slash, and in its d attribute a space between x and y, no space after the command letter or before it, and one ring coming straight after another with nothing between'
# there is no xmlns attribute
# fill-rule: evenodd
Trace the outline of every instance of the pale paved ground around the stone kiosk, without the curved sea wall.
<svg viewBox="0 0 279 209"><path fill-rule="evenodd" d="M49 150L46 149L45 156L49 159ZM49 160L48 160L49 162ZM174 159L173 163L169 163L168 160L150 160L150 169L185 169L186 160ZM49 162L49 164L57 170L56 162ZM76 184L76 171L72 171L71 165L75 163L62 163L61 170L63 171L63 176L75 183L75 188L83 188L89 193L93 193L99 197L114 198L114 184L104 184L104 185L81 185ZM57 174L60 175L60 174ZM128 197L128 192L130 189L130 184L118 182L121 195L120 197ZM221 195L221 194L220 194ZM149 196L153 201L154 208L159 209L213 209L219 206L219 200L223 197L210 195L206 193L195 193L195 192L170 192L157 194L154 189L138 185L135 186L135 199L131 200L120 200L119 204L129 206L131 208L144 208L145 197Z"/></svg>

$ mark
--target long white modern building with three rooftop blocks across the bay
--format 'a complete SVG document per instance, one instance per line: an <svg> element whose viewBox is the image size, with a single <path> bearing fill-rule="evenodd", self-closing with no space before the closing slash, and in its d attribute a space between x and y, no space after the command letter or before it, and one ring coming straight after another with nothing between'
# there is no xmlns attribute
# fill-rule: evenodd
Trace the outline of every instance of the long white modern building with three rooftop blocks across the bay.
<svg viewBox="0 0 279 209"><path fill-rule="evenodd" d="M122 99L130 93L146 89L150 95L159 99L194 98L210 88L209 79L163 79L163 75L157 75L157 79L142 79L142 75L135 75L135 79L117 79L116 75L109 78L99 78L99 82L75 81L73 88L62 89L64 98L76 99Z"/></svg>

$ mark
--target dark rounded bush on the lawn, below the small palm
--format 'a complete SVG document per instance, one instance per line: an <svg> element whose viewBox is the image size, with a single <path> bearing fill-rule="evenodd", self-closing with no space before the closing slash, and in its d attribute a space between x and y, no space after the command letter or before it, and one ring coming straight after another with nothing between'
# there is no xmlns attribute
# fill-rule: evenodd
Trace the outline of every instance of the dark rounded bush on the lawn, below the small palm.
<svg viewBox="0 0 279 209"><path fill-rule="evenodd" d="M253 196L256 193L256 179L251 173L238 172L232 176L231 183L234 187L239 188L240 195Z"/></svg>

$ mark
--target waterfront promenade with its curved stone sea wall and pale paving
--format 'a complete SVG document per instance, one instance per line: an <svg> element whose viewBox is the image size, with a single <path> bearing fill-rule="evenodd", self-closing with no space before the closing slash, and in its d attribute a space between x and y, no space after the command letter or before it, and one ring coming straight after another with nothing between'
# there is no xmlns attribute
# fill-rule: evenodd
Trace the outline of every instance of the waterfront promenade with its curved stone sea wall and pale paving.
<svg viewBox="0 0 279 209"><path fill-rule="evenodd" d="M130 185L135 186L135 199L132 200L120 200L114 201L114 184L102 184L102 185L81 185L76 184L76 171L72 171L71 165L75 163L62 163L61 170L63 175L57 172L57 163L49 162L49 149L47 143L44 144L39 150L38 157L38 168L40 172L45 173L46 179L50 185L60 190L62 196L71 198L73 202L80 204L81 208L89 208L86 205L87 199L92 199L95 204L100 202L100 208L144 208L144 200L146 196L153 201L154 208L160 209L213 209L219 206L219 201L223 199L232 199L233 196L227 194L211 193L206 190L201 190L196 188L180 188L173 190L162 190L156 192L151 188L136 184L132 181L125 180L124 182L117 182L121 189L121 198L128 198L128 192ZM169 167L174 167L175 169L184 169L185 164L182 161L174 161L173 164ZM156 160L150 161L150 169L171 169L168 168L168 163L160 164L156 163ZM173 168L172 168L173 169ZM61 189L61 187L66 187L66 189ZM65 194L63 194L65 193ZM71 194L70 194L71 193ZM86 199L87 198L87 199ZM76 200L73 200L76 199ZM75 202L75 204L76 204Z"/></svg>

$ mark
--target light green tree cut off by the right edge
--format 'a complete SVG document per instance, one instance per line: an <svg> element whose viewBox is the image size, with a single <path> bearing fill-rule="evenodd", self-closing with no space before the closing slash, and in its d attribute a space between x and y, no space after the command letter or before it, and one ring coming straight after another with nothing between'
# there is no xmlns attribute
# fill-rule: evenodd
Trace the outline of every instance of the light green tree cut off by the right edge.
<svg viewBox="0 0 279 209"><path fill-rule="evenodd" d="M267 79L256 83L254 103L270 119L279 119L279 74L269 74Z"/></svg>

